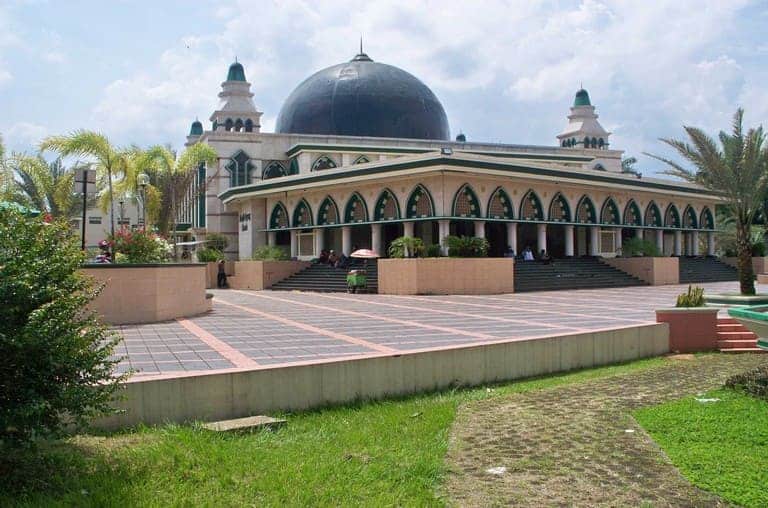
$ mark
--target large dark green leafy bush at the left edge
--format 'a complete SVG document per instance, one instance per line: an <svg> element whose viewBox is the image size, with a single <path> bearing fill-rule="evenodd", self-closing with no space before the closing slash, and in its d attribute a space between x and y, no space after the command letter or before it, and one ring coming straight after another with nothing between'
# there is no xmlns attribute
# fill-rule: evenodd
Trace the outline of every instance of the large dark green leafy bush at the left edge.
<svg viewBox="0 0 768 508"><path fill-rule="evenodd" d="M0 209L0 449L111 410L119 337L84 311L84 261L66 221Z"/></svg>

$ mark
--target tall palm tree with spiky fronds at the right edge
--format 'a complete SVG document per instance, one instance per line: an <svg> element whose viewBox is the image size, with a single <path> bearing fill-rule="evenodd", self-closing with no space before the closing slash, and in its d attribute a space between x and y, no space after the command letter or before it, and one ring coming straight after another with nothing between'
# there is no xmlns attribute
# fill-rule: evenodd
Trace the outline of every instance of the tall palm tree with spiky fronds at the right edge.
<svg viewBox="0 0 768 508"><path fill-rule="evenodd" d="M661 139L693 165L687 169L670 159L649 155L667 164L665 174L696 183L720 195L733 213L742 295L755 294L750 228L768 191L768 146L763 127L743 128L744 110L733 117L731 133L720 131L720 144L696 127L684 127L689 142Z"/></svg>

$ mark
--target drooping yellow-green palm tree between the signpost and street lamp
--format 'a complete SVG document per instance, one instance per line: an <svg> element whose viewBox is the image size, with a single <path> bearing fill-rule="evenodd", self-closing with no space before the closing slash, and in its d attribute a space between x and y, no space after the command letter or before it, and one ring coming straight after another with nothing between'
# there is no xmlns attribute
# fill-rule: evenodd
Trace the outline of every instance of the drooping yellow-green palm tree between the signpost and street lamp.
<svg viewBox="0 0 768 508"><path fill-rule="evenodd" d="M125 175L129 154L114 147L106 136L98 132L79 130L66 136L50 136L40 144L40 151L51 150L61 157L87 157L95 160L97 178L107 187L109 222L112 236L115 234L115 202L113 180Z"/></svg>

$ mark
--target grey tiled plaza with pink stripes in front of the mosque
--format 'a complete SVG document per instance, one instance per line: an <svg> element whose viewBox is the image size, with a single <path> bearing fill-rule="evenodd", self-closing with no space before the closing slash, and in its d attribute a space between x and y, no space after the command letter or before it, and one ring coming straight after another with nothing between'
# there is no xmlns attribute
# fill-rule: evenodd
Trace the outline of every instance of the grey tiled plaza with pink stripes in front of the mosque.
<svg viewBox="0 0 768 508"><path fill-rule="evenodd" d="M704 284L734 291L736 282ZM213 311L124 325L119 369L178 375L566 335L655 322L685 286L490 296L218 290Z"/></svg>

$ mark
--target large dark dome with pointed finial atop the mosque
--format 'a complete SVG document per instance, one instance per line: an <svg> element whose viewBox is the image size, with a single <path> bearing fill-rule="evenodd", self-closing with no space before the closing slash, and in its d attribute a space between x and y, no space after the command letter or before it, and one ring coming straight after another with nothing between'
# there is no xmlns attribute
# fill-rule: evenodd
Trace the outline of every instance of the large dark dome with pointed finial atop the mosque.
<svg viewBox="0 0 768 508"><path fill-rule="evenodd" d="M323 69L288 96L276 132L450 139L448 118L415 76L365 53Z"/></svg>

